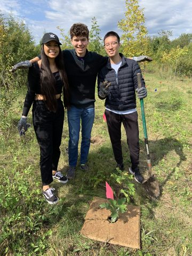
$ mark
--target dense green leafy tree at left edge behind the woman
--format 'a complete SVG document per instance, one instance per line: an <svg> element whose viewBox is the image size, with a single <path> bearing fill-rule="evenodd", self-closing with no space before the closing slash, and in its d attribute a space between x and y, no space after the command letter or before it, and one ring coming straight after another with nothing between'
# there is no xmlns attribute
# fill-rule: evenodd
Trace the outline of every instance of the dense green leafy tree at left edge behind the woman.
<svg viewBox="0 0 192 256"><path fill-rule="evenodd" d="M39 53L30 31L22 21L0 14L0 135L9 134L12 125L11 108L18 87L26 85L27 71L11 74L9 69L18 61L31 59Z"/></svg>

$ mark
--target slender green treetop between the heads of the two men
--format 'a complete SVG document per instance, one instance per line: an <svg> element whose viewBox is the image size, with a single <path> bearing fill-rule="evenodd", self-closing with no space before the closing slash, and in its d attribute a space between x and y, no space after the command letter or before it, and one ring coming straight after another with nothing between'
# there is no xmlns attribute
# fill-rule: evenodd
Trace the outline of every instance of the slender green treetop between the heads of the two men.
<svg viewBox="0 0 192 256"><path fill-rule="evenodd" d="M100 37L100 29L97 24L97 19L95 17L91 20L91 30L89 34L89 51L100 53L102 47L102 39Z"/></svg>

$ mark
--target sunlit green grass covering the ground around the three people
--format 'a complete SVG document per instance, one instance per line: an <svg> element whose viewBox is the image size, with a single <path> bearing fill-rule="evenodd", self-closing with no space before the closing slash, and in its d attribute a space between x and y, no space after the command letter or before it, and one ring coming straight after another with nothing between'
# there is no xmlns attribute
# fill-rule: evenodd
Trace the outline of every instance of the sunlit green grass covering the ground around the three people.
<svg viewBox="0 0 192 256"><path fill-rule="evenodd" d="M77 167L76 178L62 186L53 183L60 202L50 206L42 197L39 149L33 128L25 138L17 134L25 92L9 113L11 125L0 130L0 255L177 255L192 254L191 234L191 81L146 74L145 113L153 173L161 196L153 202L135 183L132 203L141 206L141 250L92 241L80 234L93 196L105 197L115 160L107 125L102 119L104 101L97 98L89 154L90 171ZM155 91L155 89L157 89ZM140 170L147 175L140 106ZM29 116L29 122L31 116ZM2 125L6 125L6 118ZM65 117L59 169L68 167L68 127ZM129 149L122 129L125 169ZM134 181L133 181L134 182Z"/></svg>

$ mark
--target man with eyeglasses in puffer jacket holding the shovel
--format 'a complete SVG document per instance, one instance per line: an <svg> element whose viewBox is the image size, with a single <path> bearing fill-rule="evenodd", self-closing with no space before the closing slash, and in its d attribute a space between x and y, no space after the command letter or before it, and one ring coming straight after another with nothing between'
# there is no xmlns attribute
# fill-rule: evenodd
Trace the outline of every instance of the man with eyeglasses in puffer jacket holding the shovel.
<svg viewBox="0 0 192 256"><path fill-rule="evenodd" d="M140 148L135 91L139 99L143 99L147 97L147 90L143 78L142 87L138 89L137 73L141 73L141 69L136 61L127 59L119 53L119 40L118 34L114 31L109 31L103 39L109 58L107 65L98 74L98 96L102 100L105 99L105 115L116 167L124 170L121 146L123 123L130 150L129 171L137 182L142 183L143 177L138 167Z"/></svg>

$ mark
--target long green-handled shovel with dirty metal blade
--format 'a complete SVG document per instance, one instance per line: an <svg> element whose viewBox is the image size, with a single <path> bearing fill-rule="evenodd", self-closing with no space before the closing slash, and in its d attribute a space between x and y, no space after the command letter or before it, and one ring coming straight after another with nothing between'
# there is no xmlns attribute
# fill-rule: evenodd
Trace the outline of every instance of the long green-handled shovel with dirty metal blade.
<svg viewBox="0 0 192 256"><path fill-rule="evenodd" d="M141 88L141 73L137 74L138 79L138 87ZM152 175L151 171L151 161L150 161L150 154L149 154L149 143L147 137L147 126L146 126L146 119L145 119L145 109L144 109L144 102L143 99L140 99L141 103L141 115L142 115L142 124L143 124L143 133L145 138L145 147L147 152L147 165L148 165L148 178L142 182L143 187L146 189L147 194L151 199L157 199L159 197L159 185L155 179L155 174Z"/></svg>

